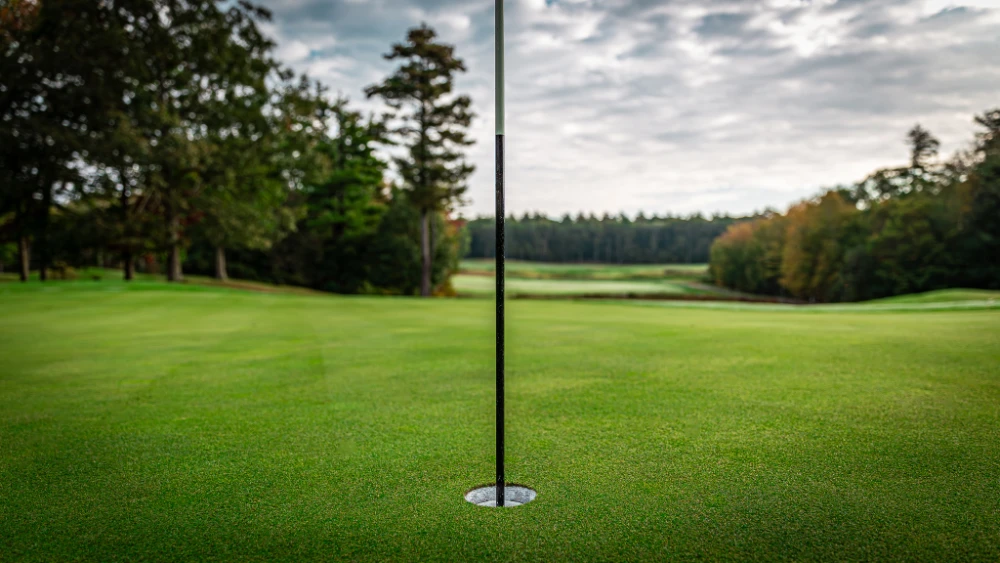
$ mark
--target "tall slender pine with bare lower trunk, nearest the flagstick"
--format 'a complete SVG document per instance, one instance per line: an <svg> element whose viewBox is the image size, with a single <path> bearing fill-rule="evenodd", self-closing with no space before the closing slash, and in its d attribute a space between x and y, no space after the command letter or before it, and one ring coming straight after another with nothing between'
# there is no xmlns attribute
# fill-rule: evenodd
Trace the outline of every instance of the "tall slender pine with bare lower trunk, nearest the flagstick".
<svg viewBox="0 0 1000 563"><path fill-rule="evenodd" d="M408 200L420 214L423 296L432 290L430 215L460 201L474 169L462 153L473 143L466 135L472 101L453 94L455 74L465 72L465 65L453 46L435 42L436 37L426 24L411 29L405 43L394 44L385 54L401 66L381 84L365 89L368 97L380 97L391 108L397 120L391 136L408 149L406 157L393 160L410 191Z"/></svg>

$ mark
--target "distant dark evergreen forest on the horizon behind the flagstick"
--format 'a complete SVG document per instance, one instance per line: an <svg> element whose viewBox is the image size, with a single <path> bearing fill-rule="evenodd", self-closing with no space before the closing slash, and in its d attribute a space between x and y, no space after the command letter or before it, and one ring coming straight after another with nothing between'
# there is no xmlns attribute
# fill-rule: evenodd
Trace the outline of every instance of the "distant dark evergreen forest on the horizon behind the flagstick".
<svg viewBox="0 0 1000 563"><path fill-rule="evenodd" d="M603 262L609 264L690 264L708 261L712 241L736 219L716 216L646 217L626 215L598 219L565 215L553 220L525 214L505 221L506 255L515 260ZM744 219L745 220L745 219ZM467 225L468 257L492 258L494 220L478 218Z"/></svg>

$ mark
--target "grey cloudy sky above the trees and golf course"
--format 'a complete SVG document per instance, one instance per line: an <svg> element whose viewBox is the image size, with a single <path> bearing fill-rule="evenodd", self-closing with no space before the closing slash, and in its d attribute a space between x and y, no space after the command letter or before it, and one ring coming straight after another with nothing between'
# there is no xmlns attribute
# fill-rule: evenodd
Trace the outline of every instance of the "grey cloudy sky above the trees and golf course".
<svg viewBox="0 0 1000 563"><path fill-rule="evenodd" d="M356 105L427 22L479 117L493 209L493 0L264 0L279 56ZM1000 0L507 0L507 209L746 213L944 153L1000 106Z"/></svg>

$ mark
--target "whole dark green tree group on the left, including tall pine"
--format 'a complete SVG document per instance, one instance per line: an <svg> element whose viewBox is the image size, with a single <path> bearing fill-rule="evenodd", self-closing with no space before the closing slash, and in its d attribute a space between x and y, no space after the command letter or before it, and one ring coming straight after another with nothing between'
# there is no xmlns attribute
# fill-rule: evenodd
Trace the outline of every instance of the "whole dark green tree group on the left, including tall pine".
<svg viewBox="0 0 1000 563"><path fill-rule="evenodd" d="M269 19L245 1L0 6L0 267L446 291L472 172L461 59L411 29L365 91L387 110L363 115L276 61Z"/></svg>

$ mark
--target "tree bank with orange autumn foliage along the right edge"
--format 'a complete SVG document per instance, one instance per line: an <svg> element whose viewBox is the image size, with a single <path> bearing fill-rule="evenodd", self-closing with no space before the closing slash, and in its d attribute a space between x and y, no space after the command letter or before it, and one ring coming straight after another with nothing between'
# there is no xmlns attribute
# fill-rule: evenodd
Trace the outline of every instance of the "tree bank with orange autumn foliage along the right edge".
<svg viewBox="0 0 1000 563"><path fill-rule="evenodd" d="M917 125L906 166L730 226L712 245L710 275L724 287L817 302L1000 289L1000 109L975 123L970 148L946 161Z"/></svg>

